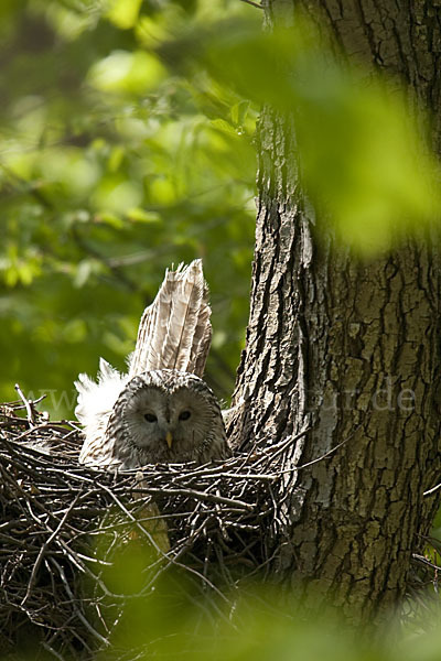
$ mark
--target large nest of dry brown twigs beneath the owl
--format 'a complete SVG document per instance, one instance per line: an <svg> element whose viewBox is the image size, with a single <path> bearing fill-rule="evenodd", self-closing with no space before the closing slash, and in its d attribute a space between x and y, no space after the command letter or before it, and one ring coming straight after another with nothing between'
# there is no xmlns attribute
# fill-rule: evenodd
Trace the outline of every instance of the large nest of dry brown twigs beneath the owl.
<svg viewBox="0 0 441 661"><path fill-rule="evenodd" d="M109 650L127 599L166 573L184 574L201 608L218 614L239 582L269 571L283 444L114 474L78 465L75 423L23 401L0 407L0 657L37 640L44 658L89 659ZM112 568L133 548L147 559L143 581L125 590Z"/></svg>

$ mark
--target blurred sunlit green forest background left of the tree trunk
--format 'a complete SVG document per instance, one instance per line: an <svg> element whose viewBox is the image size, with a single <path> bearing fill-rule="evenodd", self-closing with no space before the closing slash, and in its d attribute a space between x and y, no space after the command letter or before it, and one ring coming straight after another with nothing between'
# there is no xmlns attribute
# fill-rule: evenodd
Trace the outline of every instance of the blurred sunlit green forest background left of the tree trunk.
<svg viewBox="0 0 441 661"><path fill-rule="evenodd" d="M249 303L256 112L201 67L155 54L237 0L2 0L0 401L47 393L98 357L123 368L164 269L202 257L207 380L232 393Z"/></svg>

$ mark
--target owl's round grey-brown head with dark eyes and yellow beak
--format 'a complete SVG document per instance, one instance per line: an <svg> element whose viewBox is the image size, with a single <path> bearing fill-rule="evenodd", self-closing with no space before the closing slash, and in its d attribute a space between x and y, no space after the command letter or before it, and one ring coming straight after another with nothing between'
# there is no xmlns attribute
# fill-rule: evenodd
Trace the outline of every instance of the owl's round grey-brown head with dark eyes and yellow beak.
<svg viewBox="0 0 441 661"><path fill-rule="evenodd" d="M173 369L148 371L121 391L106 430L127 467L208 462L227 448L220 409L208 386Z"/></svg>

